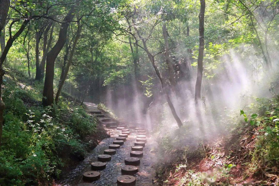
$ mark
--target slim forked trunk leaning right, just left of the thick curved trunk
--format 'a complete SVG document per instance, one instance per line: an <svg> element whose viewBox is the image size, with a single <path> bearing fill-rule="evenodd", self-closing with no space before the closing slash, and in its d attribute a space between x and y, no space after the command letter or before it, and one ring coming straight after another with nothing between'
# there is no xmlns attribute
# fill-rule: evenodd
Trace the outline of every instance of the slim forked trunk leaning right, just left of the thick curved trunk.
<svg viewBox="0 0 279 186"><path fill-rule="evenodd" d="M40 62L40 66L39 66L39 69L40 69L40 76L38 76L38 80L42 80L44 79L44 73L45 73L45 59L47 57L47 53L49 52L49 48L50 48L50 45L51 45L51 41L52 41L52 34L53 34L53 29L54 29L54 23L53 22L50 22L50 26L51 26L51 29L50 29L50 34L49 34L49 40L47 41L47 35L48 35L48 28L45 30L45 33L44 33L44 50L43 50L43 57L42 57L42 60Z"/></svg>

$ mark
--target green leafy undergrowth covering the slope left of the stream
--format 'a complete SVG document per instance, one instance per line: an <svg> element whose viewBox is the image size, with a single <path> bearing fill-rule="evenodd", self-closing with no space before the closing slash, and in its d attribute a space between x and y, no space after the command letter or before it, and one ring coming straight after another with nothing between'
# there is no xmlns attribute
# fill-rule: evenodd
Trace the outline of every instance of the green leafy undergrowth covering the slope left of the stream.
<svg viewBox="0 0 279 186"><path fill-rule="evenodd" d="M0 185L49 185L69 159L83 158L83 139L96 123L83 107L63 98L42 107L43 84L15 74L8 69L4 78Z"/></svg>

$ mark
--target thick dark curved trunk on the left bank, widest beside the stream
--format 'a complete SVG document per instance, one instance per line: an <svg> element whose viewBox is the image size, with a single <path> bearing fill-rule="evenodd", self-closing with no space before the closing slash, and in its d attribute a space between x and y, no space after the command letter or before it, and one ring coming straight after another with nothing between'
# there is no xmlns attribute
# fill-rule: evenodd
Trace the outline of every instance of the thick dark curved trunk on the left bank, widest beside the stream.
<svg viewBox="0 0 279 186"><path fill-rule="evenodd" d="M44 84L43 99L42 99L42 104L44 106L50 106L53 104L54 101L54 95L53 95L54 62L66 42L69 22L73 20L75 8L76 5L73 5L69 13L64 18L63 24L61 24L61 28L59 31L58 40L54 45L54 47L47 54L47 62L45 68L45 84Z"/></svg>

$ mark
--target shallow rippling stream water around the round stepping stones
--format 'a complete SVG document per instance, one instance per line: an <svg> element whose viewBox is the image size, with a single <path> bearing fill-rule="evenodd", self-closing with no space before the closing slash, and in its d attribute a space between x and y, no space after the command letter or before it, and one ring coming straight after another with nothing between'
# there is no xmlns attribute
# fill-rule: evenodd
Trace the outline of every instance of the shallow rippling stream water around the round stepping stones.
<svg viewBox="0 0 279 186"><path fill-rule="evenodd" d="M116 140L116 136L121 134L121 131L113 130L114 135L110 138L106 138L101 141L96 148L81 161L75 168L70 170L68 173L62 173L62 178L58 181L57 185L72 186L78 183L84 183L82 180L82 174L86 171L91 170L90 163L97 161L97 156L103 154L105 149L109 148L109 144ZM116 186L117 177L121 176L121 167L125 165L125 158L130 157L131 146L134 146L136 142L136 135L138 132L130 129L131 134L127 137L124 145L120 146L120 149L116 149L116 154L112 156L111 161L106 162L106 168L101 170L101 177L92 185L95 186ZM136 177L137 186L149 186L152 184L152 179L155 176L155 170L152 168L156 163L156 154L152 153L152 147L155 146L154 140L151 140L150 136L146 135L147 142L143 148L143 157L140 158L140 165L137 166L139 171L134 176Z"/></svg>

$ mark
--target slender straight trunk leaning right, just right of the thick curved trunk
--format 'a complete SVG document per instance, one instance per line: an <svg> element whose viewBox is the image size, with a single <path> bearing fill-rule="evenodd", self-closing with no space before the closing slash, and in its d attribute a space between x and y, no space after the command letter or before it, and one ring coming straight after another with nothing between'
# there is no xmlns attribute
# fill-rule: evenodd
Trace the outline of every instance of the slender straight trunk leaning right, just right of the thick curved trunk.
<svg viewBox="0 0 279 186"><path fill-rule="evenodd" d="M80 22L78 22L78 30L76 31L76 38L74 39L73 47L72 47L72 50L70 52L69 61L66 65L66 67L65 67L63 77L61 79L61 82L59 83L59 87L58 87L58 90L57 90L57 93L56 93L56 96L55 96L55 103L58 103L59 96L60 96L60 93L61 93L62 88L63 88L63 84L64 84L64 82L67 78L71 63L73 61L74 50L76 49L76 44L78 43L78 39L80 38L80 32L81 32L81 26L80 26Z"/></svg>

